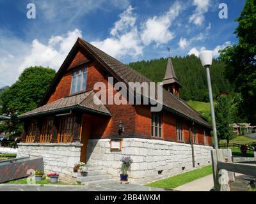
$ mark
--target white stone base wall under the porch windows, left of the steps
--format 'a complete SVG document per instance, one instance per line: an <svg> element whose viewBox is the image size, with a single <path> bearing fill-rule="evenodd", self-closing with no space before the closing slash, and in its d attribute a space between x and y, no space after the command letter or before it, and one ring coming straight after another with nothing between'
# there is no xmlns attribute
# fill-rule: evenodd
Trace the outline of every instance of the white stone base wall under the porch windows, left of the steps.
<svg viewBox="0 0 256 204"><path fill-rule="evenodd" d="M74 164L80 161L80 143L19 143L17 157L43 157L44 171L57 171L60 179L74 182Z"/></svg>

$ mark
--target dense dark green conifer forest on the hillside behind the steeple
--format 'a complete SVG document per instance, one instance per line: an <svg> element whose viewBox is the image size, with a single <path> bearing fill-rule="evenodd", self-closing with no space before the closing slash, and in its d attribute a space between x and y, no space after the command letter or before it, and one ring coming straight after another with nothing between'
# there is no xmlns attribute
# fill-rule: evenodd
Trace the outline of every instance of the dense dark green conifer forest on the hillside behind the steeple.
<svg viewBox="0 0 256 204"><path fill-rule="evenodd" d="M172 57L173 67L182 89L180 98L185 101L209 101L207 78L200 59L195 55ZM162 82L166 70L167 59L152 59L127 64L131 68L150 78L154 82ZM233 92L233 85L223 75L225 64L214 59L211 66L212 92L214 96L220 92Z"/></svg>

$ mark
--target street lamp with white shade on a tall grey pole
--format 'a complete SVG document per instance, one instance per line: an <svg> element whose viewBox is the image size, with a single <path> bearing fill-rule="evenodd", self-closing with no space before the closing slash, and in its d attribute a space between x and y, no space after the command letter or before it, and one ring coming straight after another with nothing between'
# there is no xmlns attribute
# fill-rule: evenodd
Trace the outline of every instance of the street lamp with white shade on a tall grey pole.
<svg viewBox="0 0 256 204"><path fill-rule="evenodd" d="M210 66L212 65L212 51L205 50L201 52L199 54L199 58L206 70L209 99L210 99L210 105L211 105L214 146L215 146L215 149L218 149L218 138L217 138L217 130L216 130L216 122L215 122L214 105L213 105L213 99L212 99L212 84L211 84L211 76L210 76L210 69L209 69Z"/></svg>

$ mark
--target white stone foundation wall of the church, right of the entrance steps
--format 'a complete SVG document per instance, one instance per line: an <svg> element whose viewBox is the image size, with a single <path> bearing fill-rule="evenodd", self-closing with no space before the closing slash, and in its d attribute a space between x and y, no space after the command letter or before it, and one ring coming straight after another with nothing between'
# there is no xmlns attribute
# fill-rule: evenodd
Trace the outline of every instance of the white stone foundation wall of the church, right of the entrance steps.
<svg viewBox="0 0 256 204"><path fill-rule="evenodd" d="M129 180L134 183L145 184L193 168L189 144L124 138L122 151L111 151L109 141L89 140L87 163L104 166L116 179L120 175L120 159L124 156L131 156L133 159ZM211 149L209 146L194 145L196 167L211 164Z"/></svg>

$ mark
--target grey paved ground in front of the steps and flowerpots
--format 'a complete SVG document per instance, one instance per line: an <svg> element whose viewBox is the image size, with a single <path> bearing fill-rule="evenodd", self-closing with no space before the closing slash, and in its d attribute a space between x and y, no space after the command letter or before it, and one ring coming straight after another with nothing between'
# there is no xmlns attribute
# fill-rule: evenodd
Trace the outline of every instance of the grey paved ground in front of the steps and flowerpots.
<svg viewBox="0 0 256 204"><path fill-rule="evenodd" d="M89 186L77 185L40 185L40 184L0 184L0 191L166 191L161 188L140 186L138 184L120 184L109 182L92 184Z"/></svg>

